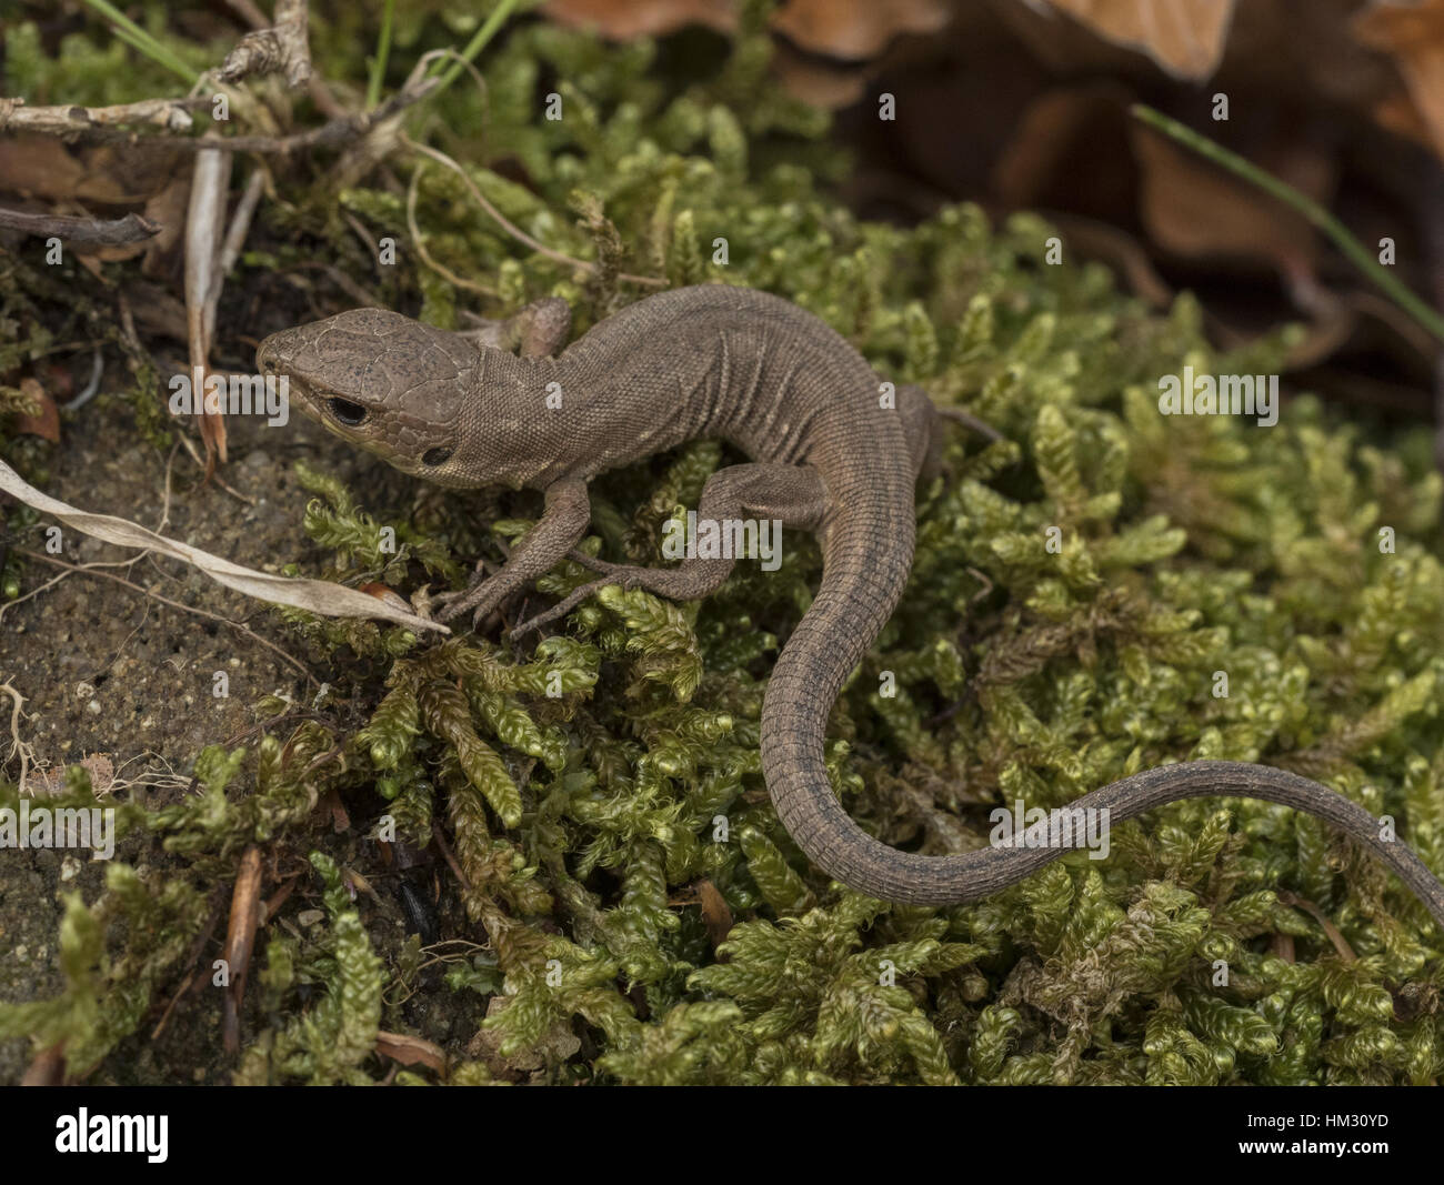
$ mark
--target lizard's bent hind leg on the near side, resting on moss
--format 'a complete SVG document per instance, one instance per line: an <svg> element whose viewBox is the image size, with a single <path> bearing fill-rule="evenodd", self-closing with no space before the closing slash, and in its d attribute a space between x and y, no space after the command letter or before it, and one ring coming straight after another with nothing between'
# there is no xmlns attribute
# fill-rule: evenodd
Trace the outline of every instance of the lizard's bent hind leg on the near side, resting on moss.
<svg viewBox="0 0 1444 1185"><path fill-rule="evenodd" d="M572 612L586 598L606 585L621 585L627 589L645 589L671 600L699 600L721 587L738 559L731 546L744 538L761 540L758 520L780 521L787 527L817 531L825 525L827 512L827 491L822 475L810 465L748 463L731 465L708 478L697 507L697 531L716 531L723 544L722 554L690 556L677 567L637 567L596 560L580 551L570 556L601 579L572 592L559 605L521 622L511 631L518 637L537 629ZM748 522L752 521L751 530ZM774 546L780 546L780 535ZM700 548L699 548L700 550Z"/></svg>

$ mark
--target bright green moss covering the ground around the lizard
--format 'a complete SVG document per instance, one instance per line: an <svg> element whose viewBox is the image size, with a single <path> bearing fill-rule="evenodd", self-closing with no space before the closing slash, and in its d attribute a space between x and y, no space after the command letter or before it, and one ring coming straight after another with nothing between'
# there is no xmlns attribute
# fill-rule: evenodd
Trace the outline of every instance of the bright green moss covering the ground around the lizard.
<svg viewBox="0 0 1444 1185"><path fill-rule="evenodd" d="M822 117L761 81L749 12L726 64L684 87L648 42L523 26L488 61L485 108L458 85L419 117L417 136L482 128L474 156L520 162L530 188L468 170L529 234L601 251L604 281L527 254L430 165L417 221L438 261L501 293L490 312L556 293L585 328L641 294L617 268L765 287L885 377L1004 434L980 446L954 432L949 479L920 492L908 595L829 730L853 817L943 850L985 841L996 805L1054 807L1171 759L1265 761L1392 814L1444 870L1441 485L1425 436L1385 445L1307 397L1274 429L1161 417L1160 375L1276 371L1288 333L1220 354L1193 300L1155 316L1099 267L1048 266L1037 218L992 228L950 206L914 228L856 221L819 183L838 167ZM427 27L409 23L400 45ZM536 105L552 72L569 79L559 123ZM466 157L462 137L451 147ZM271 229L339 241L316 214L325 178L312 186L289 180ZM404 228L394 195L342 201L378 237ZM442 323L466 299L404 270L397 294ZM586 546L656 563L658 524L695 507L725 460L696 443L599 479ZM308 481L331 510L305 525L348 579L406 576L377 521L410 524L419 583L422 567L449 577L500 557L536 511L417 486L410 507L368 507L373 520L336 484ZM284 745L208 751L202 797L137 811L136 826L182 859L170 892L204 896L244 844L309 852L329 791L354 804L358 852L374 850L362 833L423 843L440 824L465 878L455 932L479 924L488 944L446 983L478 1020L484 999L507 997L485 1020L495 1057L432 1075L449 1081L1428 1083L1444 1070L1444 937L1376 865L1279 807L1180 803L1115 828L1106 862L1069 856L970 906L887 906L829 885L780 828L757 751L778 638L817 574L799 544L780 572L742 569L703 603L611 589L531 654L302 625L368 660L341 663L335 681L362 717L322 704ZM567 563L539 587L586 579ZM895 696L878 694L885 673ZM231 781L245 794L227 794ZM381 805L362 814L373 791ZM371 905L315 865L331 927L305 941L273 928L247 1081L381 1075L367 1057L383 977L361 925ZM189 924L170 915L103 961L98 919L136 896L120 879L68 912L66 996L6 1009L6 1032L100 1058L134 1028L137 993L182 973ZM1281 891L1324 911L1347 954ZM736 925L718 947L726 912ZM537 1051L557 1049L559 1031L585 1044L549 1062Z"/></svg>

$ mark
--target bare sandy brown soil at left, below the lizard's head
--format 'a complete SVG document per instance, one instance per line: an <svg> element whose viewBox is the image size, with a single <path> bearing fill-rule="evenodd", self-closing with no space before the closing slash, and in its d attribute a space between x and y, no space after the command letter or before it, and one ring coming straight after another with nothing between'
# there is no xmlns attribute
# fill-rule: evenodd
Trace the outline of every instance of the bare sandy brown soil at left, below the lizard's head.
<svg viewBox="0 0 1444 1185"><path fill-rule="evenodd" d="M68 416L48 492L85 510L160 528L168 458L137 440L129 417L130 408L120 400L95 400ZM231 463L221 475L251 502L214 482L202 485L196 465L178 452L170 463L169 524L163 533L243 564L279 570L286 561L300 560L316 572L323 557L300 527L310 495L297 484L292 463L319 463L348 481L360 466L368 492L377 489L378 466L348 456L305 421L276 429L258 420L230 424ZM117 440L126 443L117 449ZM40 550L46 525L42 521L17 546ZM62 559L69 563L127 560L134 554L65 531ZM244 619L260 637L296 650L267 606L175 560L146 557L129 569L107 570L182 605L230 621ZM58 569L29 563L22 595L56 574ZM315 661L312 670L325 677ZM189 775L205 745L224 742L254 722L251 704L260 696L276 690L296 696L305 690L295 668L254 638L81 573L6 609L0 619L0 671L26 697L30 717L22 725L22 736L39 762L59 765L103 753L121 778L165 768ZM212 694L218 671L230 683L224 699ZM9 709L7 701L6 719ZM9 772L17 771L12 766ZM160 804L185 791L142 792L144 801ZM163 867L170 860L149 840L123 844L116 859L140 867ZM85 859L84 853L77 859L56 850L0 849L0 999L45 997L61 987L61 893L78 888L94 901L103 878L104 862ZM386 928L394 931L397 918L387 918ZM218 937L224 937L224 928L222 919ZM219 1007L206 997L218 994L193 993L170 1018L159 1042L149 1039L152 1026L146 1025L113 1062L124 1062L134 1081L224 1077L227 1067L211 1064L219 1055ZM19 1081L29 1058L27 1041L0 1042L0 1083Z"/></svg>

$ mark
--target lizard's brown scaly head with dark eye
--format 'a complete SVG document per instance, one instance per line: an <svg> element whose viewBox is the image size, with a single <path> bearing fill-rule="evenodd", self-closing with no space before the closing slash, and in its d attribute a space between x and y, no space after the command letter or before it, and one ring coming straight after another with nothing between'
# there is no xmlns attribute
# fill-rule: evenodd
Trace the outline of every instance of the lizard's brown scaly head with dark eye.
<svg viewBox="0 0 1444 1185"><path fill-rule="evenodd" d="M443 329L383 309L352 309L271 333L263 375L284 375L293 404L336 436L407 473L472 482L449 465L464 436L481 352Z"/></svg>

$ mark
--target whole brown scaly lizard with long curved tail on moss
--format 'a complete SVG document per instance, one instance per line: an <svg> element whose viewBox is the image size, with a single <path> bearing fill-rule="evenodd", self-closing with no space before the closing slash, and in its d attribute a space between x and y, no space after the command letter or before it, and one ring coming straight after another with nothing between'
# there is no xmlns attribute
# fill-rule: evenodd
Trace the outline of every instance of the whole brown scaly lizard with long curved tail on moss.
<svg viewBox="0 0 1444 1185"><path fill-rule="evenodd" d="M567 612L602 585L690 600L731 560L676 569L604 564L573 548L591 511L586 482L699 437L752 458L715 473L699 518L780 518L816 531L817 599L787 639L762 704L762 769L777 814L832 876L885 901L978 901L1021 880L1063 847L999 846L960 856L897 852L859 828L833 797L823 732L843 680L892 613L913 563L914 482L934 456L937 411L915 387L879 398L868 362L822 320L739 287L680 289L640 300L550 357L566 305L544 300L474 335L360 309L274 333L263 372L287 374L300 408L407 473L451 486L546 492L546 511L503 569L458 595L443 618L479 622L565 557L602 577L523 628ZM513 352L520 351L520 354ZM1444 928L1444 888L1379 823L1326 787L1264 765L1200 761L1136 774L1071 804L1118 823L1177 798L1265 798L1320 815L1383 860Z"/></svg>

